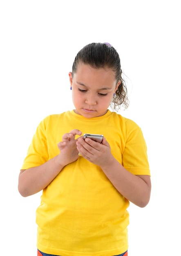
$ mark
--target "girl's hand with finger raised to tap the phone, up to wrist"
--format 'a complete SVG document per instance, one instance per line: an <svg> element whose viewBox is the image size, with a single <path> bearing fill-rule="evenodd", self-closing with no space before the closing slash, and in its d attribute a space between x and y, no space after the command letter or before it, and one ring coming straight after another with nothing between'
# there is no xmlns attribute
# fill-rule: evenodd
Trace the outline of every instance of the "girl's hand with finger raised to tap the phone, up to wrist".
<svg viewBox="0 0 181 256"><path fill-rule="evenodd" d="M78 129L74 129L69 133L65 133L62 137L62 141L58 143L60 150L59 160L60 164L67 165L78 159L78 150L75 139L76 135L81 135L82 132Z"/></svg>

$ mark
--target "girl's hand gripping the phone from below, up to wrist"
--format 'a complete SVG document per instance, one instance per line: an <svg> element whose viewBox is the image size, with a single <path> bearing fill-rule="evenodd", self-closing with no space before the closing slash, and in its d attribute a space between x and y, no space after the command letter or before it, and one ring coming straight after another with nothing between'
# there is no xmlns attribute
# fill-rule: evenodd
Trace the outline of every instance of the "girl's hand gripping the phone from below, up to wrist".
<svg viewBox="0 0 181 256"><path fill-rule="evenodd" d="M77 150L85 159L93 164L102 167L107 161L112 159L111 148L109 143L103 138L102 144L93 141L92 139L79 138L76 142Z"/></svg>

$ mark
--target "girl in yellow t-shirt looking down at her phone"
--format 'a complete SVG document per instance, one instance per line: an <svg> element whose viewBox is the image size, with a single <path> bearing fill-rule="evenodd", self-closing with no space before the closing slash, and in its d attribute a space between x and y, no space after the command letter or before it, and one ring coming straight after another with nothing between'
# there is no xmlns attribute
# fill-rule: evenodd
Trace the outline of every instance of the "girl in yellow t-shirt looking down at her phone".
<svg viewBox="0 0 181 256"><path fill-rule="evenodd" d="M151 182L141 128L108 110L127 106L118 53L86 45L69 81L75 109L40 122L19 175L22 196L43 190L38 256L126 256L129 201L145 207Z"/></svg>

